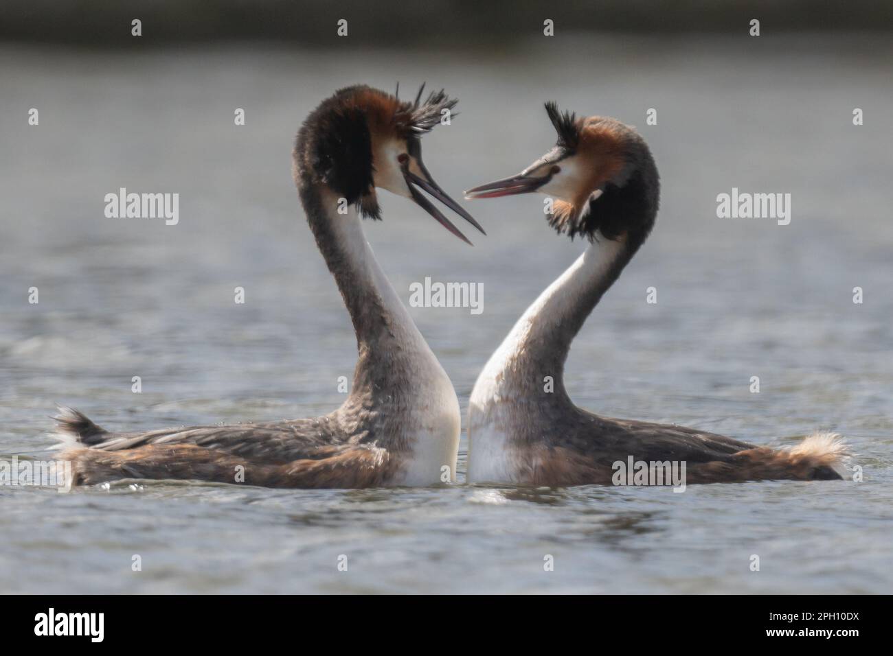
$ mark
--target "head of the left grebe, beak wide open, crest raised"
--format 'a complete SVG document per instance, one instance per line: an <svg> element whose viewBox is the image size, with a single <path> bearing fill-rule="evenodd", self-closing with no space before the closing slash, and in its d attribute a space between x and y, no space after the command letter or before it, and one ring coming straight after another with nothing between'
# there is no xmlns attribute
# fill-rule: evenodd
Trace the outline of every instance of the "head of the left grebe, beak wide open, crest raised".
<svg viewBox="0 0 893 656"><path fill-rule="evenodd" d="M296 180L299 186L306 179L328 187L371 219L380 219L376 189L387 189L411 198L456 237L471 244L420 191L484 232L421 162L421 135L430 132L457 103L443 90L431 92L422 101L423 89L424 85L413 102L364 85L340 89L323 101L298 132Z"/></svg>

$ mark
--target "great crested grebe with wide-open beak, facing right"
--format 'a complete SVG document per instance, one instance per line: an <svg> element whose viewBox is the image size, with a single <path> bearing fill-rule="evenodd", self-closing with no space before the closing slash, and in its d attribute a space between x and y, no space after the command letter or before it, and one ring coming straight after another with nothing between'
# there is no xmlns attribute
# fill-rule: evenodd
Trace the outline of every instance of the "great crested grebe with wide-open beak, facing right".
<svg viewBox="0 0 893 656"><path fill-rule="evenodd" d="M359 356L344 404L314 419L146 433L110 433L63 407L55 419L63 439L75 443L63 453L74 484L122 477L270 487L455 480L461 425L455 390L360 224L361 217L380 218L380 187L412 198L468 242L421 187L483 232L421 162L421 135L456 101L439 91L421 102L421 92L414 102L401 102L371 87L341 89L307 117L296 139L292 168L301 203L356 333ZM350 211L341 213L345 201Z"/></svg>

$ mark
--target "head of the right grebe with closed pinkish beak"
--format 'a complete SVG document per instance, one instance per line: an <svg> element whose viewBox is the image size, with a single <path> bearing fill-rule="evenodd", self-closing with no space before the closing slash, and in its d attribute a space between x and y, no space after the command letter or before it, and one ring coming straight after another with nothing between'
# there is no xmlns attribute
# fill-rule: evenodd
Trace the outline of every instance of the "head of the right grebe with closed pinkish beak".
<svg viewBox="0 0 893 656"><path fill-rule="evenodd" d="M465 197L539 192L555 198L547 216L559 233L644 240L654 225L660 193L645 140L619 120L577 119L559 112L555 103L547 103L546 112L558 133L555 146L521 173L474 187Z"/></svg>

